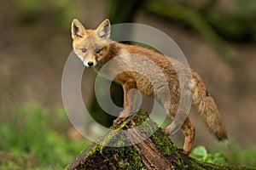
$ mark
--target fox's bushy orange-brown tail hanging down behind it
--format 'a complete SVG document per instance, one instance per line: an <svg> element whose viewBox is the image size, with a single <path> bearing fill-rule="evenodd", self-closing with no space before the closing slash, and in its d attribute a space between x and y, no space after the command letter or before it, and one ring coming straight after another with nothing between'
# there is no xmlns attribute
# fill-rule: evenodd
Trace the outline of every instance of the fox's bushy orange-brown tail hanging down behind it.
<svg viewBox="0 0 256 170"><path fill-rule="evenodd" d="M201 78L197 75L195 81L196 83L193 93L193 105L195 110L203 117L204 121L207 123L209 131L219 141L228 139L226 127L219 115L212 96L207 93L207 88L203 82L201 82Z"/></svg>

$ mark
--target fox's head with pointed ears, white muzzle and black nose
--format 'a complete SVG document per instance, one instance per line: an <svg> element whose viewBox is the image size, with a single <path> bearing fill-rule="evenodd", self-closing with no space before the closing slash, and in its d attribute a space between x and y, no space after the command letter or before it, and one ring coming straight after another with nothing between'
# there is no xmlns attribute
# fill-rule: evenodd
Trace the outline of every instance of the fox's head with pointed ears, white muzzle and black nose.
<svg viewBox="0 0 256 170"><path fill-rule="evenodd" d="M110 21L104 20L95 30L87 30L74 19L72 22L73 50L85 66L96 66L108 54Z"/></svg>

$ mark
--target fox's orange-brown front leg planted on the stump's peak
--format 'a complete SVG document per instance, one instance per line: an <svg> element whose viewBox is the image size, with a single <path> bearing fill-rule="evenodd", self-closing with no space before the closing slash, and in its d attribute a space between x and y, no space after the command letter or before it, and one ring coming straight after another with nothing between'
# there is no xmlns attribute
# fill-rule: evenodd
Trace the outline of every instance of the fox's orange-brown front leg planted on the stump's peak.
<svg viewBox="0 0 256 170"><path fill-rule="evenodd" d="M119 116L113 121L113 127L117 127L121 122L125 121L126 117L130 116L137 108L137 84L133 80L129 80L123 84L124 90L124 110L119 113Z"/></svg>

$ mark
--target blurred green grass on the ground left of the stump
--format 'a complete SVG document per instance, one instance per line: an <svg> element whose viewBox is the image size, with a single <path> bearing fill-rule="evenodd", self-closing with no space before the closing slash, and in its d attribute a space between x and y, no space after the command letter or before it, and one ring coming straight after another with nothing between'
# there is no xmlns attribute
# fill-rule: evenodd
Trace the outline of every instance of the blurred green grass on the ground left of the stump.
<svg viewBox="0 0 256 170"><path fill-rule="evenodd" d="M89 144L68 138L62 109L24 104L9 114L0 111L0 169L63 169Z"/></svg>

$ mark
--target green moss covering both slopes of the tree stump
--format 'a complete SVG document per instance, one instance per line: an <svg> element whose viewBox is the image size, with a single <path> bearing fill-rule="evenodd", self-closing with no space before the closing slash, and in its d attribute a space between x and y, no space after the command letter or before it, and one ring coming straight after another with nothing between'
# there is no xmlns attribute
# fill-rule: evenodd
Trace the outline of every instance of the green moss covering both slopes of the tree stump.
<svg viewBox="0 0 256 170"><path fill-rule="evenodd" d="M252 169L249 167L215 165L183 155L171 139L161 132L157 124L150 121L147 112L142 110L137 111L135 115L121 123L119 127L109 131L102 139L99 139L100 144L90 145L90 151L87 155L80 157L83 161L79 162L78 169L147 169L143 165L143 160L137 150L132 146L127 146L127 144L130 144L130 140L124 130L129 127L129 123L132 121L139 125L142 133L153 133L149 138L154 142L155 147L160 150L167 160L170 160L173 166L180 169Z"/></svg>

